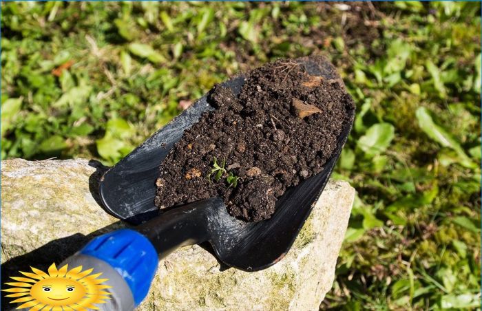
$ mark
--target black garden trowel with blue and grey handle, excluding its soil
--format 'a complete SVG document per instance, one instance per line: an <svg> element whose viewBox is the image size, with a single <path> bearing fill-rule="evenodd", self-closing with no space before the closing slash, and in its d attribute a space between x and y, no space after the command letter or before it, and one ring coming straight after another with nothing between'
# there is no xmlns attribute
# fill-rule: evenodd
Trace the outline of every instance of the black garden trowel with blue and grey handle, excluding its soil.
<svg viewBox="0 0 482 311"><path fill-rule="evenodd" d="M306 72L326 79L339 79L328 61L297 58ZM244 84L242 74L222 83L238 95ZM109 213L137 226L117 230L92 240L67 261L70 265L98 267L116 279L111 310L131 310L146 296L158 260L176 248L209 242L218 259L234 268L256 271L282 259L295 241L306 218L321 195L335 162L348 138L355 111L337 138L337 148L321 173L288 189L277 200L271 219L244 222L231 217L220 197L193 202L159 213L154 205L159 165L182 137L185 129L198 122L203 112L213 110L207 96L154 133L101 179L100 194ZM95 270L95 269L94 269ZM111 308L107 305L101 308Z"/></svg>

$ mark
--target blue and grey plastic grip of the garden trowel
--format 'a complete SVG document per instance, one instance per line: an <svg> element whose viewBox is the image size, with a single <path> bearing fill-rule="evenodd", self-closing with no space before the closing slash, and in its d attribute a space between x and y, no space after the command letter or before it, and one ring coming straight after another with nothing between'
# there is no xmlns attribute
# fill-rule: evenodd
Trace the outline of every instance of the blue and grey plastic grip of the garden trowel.
<svg viewBox="0 0 482 311"><path fill-rule="evenodd" d="M136 230L121 229L92 239L61 266L94 268L108 279L112 299L101 310L131 311L146 297L158 266L158 253L149 239Z"/></svg>

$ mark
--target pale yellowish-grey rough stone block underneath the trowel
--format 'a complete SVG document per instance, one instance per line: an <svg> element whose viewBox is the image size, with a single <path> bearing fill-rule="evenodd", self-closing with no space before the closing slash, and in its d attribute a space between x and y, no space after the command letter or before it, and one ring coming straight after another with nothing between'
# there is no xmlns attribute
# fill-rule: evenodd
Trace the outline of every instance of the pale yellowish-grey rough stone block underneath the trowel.
<svg viewBox="0 0 482 311"><path fill-rule="evenodd" d="M46 270L92 237L125 227L98 205L103 171L87 160L1 162L2 283L28 266ZM160 261L138 310L318 310L335 277L354 195L348 183L328 182L289 253L259 272L221 271L207 250L180 248Z"/></svg>

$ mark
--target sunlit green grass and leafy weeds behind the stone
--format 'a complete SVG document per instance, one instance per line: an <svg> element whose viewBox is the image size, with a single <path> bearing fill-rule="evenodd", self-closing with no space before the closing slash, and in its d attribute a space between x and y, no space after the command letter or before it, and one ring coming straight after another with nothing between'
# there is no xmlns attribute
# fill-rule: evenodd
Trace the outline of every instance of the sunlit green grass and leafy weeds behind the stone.
<svg viewBox="0 0 482 311"><path fill-rule="evenodd" d="M479 308L481 5L344 5L1 3L1 158L114 164L214 83L326 54L357 198L322 308Z"/></svg>

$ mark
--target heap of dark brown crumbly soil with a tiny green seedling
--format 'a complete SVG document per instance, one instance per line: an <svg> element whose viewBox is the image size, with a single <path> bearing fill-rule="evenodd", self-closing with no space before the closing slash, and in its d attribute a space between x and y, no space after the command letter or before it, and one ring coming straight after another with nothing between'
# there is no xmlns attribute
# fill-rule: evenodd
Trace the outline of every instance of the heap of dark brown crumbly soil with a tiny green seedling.
<svg viewBox="0 0 482 311"><path fill-rule="evenodd" d="M311 76L291 59L244 76L239 96L221 85L211 90L216 109L160 165L156 206L220 196L231 215L257 222L275 213L287 188L323 170L355 109L342 81Z"/></svg>

